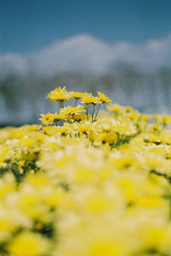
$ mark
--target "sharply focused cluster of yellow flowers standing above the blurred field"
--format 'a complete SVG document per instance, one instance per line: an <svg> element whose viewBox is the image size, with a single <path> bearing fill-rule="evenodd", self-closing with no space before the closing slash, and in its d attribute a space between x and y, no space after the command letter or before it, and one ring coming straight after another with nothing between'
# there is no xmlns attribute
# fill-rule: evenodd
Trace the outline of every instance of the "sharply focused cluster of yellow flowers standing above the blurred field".
<svg viewBox="0 0 171 256"><path fill-rule="evenodd" d="M98 97L93 96L91 93L83 92L68 92L66 87L57 87L51 91L47 98L53 102L57 102L59 106L59 113L41 115L40 121L44 125L58 124L61 120L68 122L80 122L82 120L90 120L91 122L97 121L97 114L101 104L110 103L111 100L102 92L97 92ZM66 100L74 99L74 107L64 107ZM78 101L80 100L80 104ZM97 106L97 108L96 108Z"/></svg>

